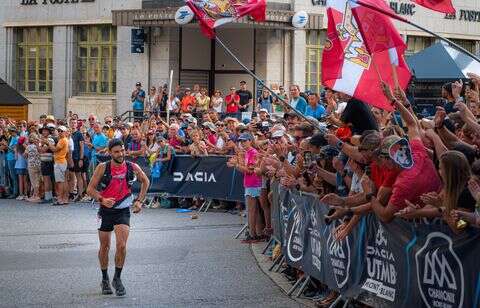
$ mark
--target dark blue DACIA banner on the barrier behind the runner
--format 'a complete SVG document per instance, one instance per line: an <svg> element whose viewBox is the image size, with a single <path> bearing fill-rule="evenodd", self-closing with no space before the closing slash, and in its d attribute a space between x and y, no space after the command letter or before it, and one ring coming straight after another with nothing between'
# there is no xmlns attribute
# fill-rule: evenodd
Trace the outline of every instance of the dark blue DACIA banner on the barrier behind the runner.
<svg viewBox="0 0 480 308"><path fill-rule="evenodd" d="M159 178L151 180L149 193L243 202L243 174L227 167L228 158L177 155Z"/></svg>

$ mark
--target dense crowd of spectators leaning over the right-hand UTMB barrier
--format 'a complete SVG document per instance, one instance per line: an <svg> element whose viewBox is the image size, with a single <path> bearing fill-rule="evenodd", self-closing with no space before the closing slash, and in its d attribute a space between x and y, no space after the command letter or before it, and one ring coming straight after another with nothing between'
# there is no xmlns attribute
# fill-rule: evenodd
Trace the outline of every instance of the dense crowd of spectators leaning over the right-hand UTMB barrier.
<svg viewBox="0 0 480 308"><path fill-rule="evenodd" d="M384 84L393 112L327 90L320 123L286 113L268 131L241 130L228 164L245 175L245 242L271 233L272 181L317 195L330 207L325 221L339 220L337 240L369 213L383 223L443 221L454 233L480 228L480 77L469 76L442 87L444 101L430 117L417 115L401 89ZM306 114L313 104L308 99L304 108L293 90L291 106ZM289 267L285 273L292 280L302 275ZM327 294L317 300L319 307L339 295L318 281L314 285L314 294Z"/></svg>

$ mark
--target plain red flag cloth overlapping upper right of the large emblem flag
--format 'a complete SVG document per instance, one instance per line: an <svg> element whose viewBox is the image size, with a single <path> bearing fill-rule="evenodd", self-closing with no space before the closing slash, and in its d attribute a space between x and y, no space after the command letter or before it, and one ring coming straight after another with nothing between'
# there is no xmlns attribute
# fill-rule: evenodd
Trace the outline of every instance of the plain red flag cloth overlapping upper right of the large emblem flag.
<svg viewBox="0 0 480 308"><path fill-rule="evenodd" d="M395 15L384 0L352 0L349 2L358 29L370 54L392 47L406 49L403 38L395 29L390 18L381 12ZM370 8L371 7L371 8Z"/></svg>

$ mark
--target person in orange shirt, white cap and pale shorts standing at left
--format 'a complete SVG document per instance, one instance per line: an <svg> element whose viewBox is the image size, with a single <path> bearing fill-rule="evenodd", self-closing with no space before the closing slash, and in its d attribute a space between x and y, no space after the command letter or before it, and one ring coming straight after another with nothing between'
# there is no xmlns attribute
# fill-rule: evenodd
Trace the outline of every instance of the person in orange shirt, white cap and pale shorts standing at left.
<svg viewBox="0 0 480 308"><path fill-rule="evenodd" d="M53 205L65 205L68 204L69 193L66 181L68 154L67 128L65 126L59 126L57 130L59 137L58 143L57 145L50 145L55 163L53 171L55 175L55 191L57 192L57 202Z"/></svg>

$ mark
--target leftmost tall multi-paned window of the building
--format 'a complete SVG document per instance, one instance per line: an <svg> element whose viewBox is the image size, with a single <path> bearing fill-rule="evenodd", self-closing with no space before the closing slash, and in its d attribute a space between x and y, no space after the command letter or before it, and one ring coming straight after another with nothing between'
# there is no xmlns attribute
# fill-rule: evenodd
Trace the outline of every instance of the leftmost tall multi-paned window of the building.
<svg viewBox="0 0 480 308"><path fill-rule="evenodd" d="M19 28L17 37L17 90L52 92L53 28Z"/></svg>

